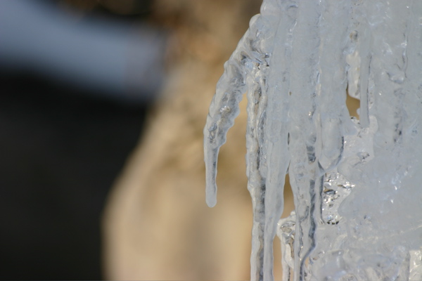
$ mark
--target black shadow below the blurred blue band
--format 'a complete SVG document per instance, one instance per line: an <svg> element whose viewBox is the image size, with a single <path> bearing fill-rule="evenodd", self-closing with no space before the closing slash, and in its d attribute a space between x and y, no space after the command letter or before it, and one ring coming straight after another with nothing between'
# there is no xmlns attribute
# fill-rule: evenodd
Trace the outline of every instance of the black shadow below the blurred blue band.
<svg viewBox="0 0 422 281"><path fill-rule="evenodd" d="M0 89L0 279L101 279L101 211L145 105L28 74Z"/></svg>

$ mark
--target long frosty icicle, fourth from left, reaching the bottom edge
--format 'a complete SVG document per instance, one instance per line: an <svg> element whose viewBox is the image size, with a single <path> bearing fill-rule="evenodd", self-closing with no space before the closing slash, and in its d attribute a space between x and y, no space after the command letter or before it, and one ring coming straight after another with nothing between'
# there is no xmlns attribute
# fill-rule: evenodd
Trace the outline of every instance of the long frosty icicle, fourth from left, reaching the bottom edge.
<svg viewBox="0 0 422 281"><path fill-rule="evenodd" d="M298 23L293 36L290 81L290 185L295 195L295 280L306 274L305 261L314 248L314 196L316 174L316 89L319 84L319 21L324 1L300 1ZM305 8L305 6L307 8Z"/></svg>

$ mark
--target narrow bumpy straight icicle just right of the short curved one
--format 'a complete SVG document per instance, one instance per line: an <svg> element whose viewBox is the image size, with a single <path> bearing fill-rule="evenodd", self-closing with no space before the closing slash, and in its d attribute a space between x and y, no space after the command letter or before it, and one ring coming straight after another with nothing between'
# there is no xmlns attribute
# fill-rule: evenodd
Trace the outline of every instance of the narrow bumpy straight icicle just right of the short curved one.
<svg viewBox="0 0 422 281"><path fill-rule="evenodd" d="M271 7L271 11L274 12ZM248 190L252 197L252 252L250 256L251 280L265 280L264 278L264 231L265 225L265 177L267 171L266 145L263 141L265 116L267 109L267 81L269 79L269 65L273 51L275 30L269 30L273 25L274 16L267 15L265 3L262 15L251 25L250 32L257 34L257 38L250 43L249 63L254 67L248 72L248 128L246 134L246 169L248 175ZM278 18L275 18L278 20Z"/></svg>

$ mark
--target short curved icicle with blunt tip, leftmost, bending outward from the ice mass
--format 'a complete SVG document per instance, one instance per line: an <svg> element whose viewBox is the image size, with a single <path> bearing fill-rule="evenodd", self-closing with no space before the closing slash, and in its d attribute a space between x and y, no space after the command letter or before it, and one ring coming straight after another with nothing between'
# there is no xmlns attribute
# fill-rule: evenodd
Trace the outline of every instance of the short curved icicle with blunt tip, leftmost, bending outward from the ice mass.
<svg viewBox="0 0 422 281"><path fill-rule="evenodd" d="M272 4L273 0L265 0L262 7ZM204 128L206 200L210 207L214 207L217 203L216 176L219 148L226 142L226 133L233 126L234 119L239 113L238 103L247 90L247 77L256 75L254 67L267 65L268 50L274 46L272 40L275 31L271 26L274 20L278 20L277 15L279 13L270 13L265 15L265 18L262 15L255 15L250 20L250 28L224 64L224 74L217 83Z"/></svg>

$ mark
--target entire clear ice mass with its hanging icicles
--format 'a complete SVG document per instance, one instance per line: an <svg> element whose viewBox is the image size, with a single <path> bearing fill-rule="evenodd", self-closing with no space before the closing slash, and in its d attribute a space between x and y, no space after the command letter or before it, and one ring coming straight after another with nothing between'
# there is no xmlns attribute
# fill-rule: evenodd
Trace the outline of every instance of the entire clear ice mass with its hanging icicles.
<svg viewBox="0 0 422 281"><path fill-rule="evenodd" d="M264 0L224 70L207 204L247 93L251 279L274 279L277 234L283 280L422 280L422 1ZM279 221L287 172L295 212Z"/></svg>

